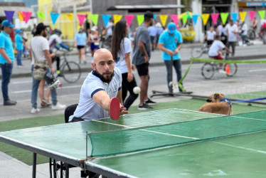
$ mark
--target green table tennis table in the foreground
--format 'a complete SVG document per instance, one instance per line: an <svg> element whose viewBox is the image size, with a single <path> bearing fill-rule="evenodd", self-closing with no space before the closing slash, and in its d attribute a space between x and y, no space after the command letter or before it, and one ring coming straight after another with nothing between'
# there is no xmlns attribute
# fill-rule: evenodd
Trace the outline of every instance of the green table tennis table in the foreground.
<svg viewBox="0 0 266 178"><path fill-rule="evenodd" d="M191 110L156 110L124 115L119 120L103 118L0 132L0 141L33 152L33 177L37 154L105 177L265 177L265 114L261 111L222 116ZM97 149L86 132L97 135ZM138 135L141 132L144 135ZM90 157L92 150L109 144L108 135L113 139L113 150L130 149L133 145L135 151L115 154L107 146L104 156L97 156L96 152L95 157ZM174 138L173 143L169 137ZM144 141L151 142L151 147L142 149L136 144Z"/></svg>

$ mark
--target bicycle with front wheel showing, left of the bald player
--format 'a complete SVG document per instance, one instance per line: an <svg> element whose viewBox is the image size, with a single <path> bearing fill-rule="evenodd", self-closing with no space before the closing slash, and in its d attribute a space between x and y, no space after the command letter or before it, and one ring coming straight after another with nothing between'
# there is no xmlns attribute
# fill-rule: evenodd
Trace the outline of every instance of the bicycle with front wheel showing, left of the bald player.
<svg viewBox="0 0 266 178"><path fill-rule="evenodd" d="M80 65L74 61L68 61L66 54L69 51L59 50L63 52L62 58L63 63L60 65L60 75L63 76L64 80L68 83L75 83L80 79L81 68Z"/></svg>

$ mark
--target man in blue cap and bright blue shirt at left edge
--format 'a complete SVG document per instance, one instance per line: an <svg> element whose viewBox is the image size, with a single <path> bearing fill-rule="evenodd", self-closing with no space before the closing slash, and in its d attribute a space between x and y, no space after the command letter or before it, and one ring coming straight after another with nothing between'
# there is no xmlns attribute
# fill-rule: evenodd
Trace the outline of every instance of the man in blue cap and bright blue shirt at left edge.
<svg viewBox="0 0 266 178"><path fill-rule="evenodd" d="M1 23L0 33L0 67L2 71L2 94L4 105L16 105L16 101L9 99L9 81L12 74L13 62L15 60L14 48L10 38L10 33L14 26L9 21L4 20Z"/></svg>

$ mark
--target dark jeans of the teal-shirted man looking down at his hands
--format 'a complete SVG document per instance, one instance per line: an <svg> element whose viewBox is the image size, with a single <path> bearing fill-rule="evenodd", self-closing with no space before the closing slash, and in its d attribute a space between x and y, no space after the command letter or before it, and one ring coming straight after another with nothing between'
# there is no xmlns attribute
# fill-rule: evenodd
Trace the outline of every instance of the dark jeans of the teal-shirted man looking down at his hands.
<svg viewBox="0 0 266 178"><path fill-rule="evenodd" d="M167 70L167 85L168 85L169 93L173 93L173 87L169 86L169 83L171 82L171 78L174 79L174 77L172 77L173 76L173 74L172 74L173 69L171 70L171 61L165 61L164 60L164 64L165 64L166 70ZM181 78L182 78L181 60L180 59L174 60L173 61L173 67L176 70L177 81L181 80ZM181 88L179 88L179 91L182 91Z"/></svg>

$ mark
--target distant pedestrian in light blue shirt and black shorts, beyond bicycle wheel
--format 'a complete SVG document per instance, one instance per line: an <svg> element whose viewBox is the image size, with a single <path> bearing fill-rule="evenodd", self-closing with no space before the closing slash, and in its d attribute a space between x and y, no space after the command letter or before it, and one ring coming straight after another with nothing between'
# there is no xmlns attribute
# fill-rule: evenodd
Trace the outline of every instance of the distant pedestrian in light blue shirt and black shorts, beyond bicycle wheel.
<svg viewBox="0 0 266 178"><path fill-rule="evenodd" d="M83 28L80 28L77 34L75 34L74 46L78 48L78 62L81 62L81 58L83 59L83 64L85 61L85 46L87 43L87 35Z"/></svg>

